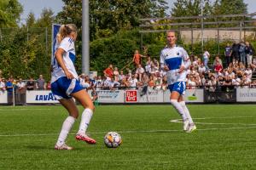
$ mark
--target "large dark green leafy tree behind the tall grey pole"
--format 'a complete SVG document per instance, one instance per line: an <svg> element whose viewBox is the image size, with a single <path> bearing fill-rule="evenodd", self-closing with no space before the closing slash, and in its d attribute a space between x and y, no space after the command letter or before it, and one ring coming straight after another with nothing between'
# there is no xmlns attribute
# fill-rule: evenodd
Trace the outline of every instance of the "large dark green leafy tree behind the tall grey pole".
<svg viewBox="0 0 256 170"><path fill-rule="evenodd" d="M63 11L57 15L61 23L73 23L82 26L82 1L62 0ZM139 19L145 17L164 17L165 0L116 0L90 1L90 40L109 37L121 29L139 26Z"/></svg>

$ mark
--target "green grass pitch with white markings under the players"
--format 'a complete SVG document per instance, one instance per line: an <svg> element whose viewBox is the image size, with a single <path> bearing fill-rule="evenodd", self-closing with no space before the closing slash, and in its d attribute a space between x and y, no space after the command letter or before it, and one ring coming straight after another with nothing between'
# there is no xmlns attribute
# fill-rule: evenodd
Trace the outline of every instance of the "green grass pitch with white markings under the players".
<svg viewBox="0 0 256 170"><path fill-rule="evenodd" d="M79 107L82 111L82 107ZM0 169L256 169L256 105L189 105L195 133L183 133L171 105L100 105L88 132L90 145L54 150L67 112L55 106L0 107ZM120 133L108 149L103 137Z"/></svg>

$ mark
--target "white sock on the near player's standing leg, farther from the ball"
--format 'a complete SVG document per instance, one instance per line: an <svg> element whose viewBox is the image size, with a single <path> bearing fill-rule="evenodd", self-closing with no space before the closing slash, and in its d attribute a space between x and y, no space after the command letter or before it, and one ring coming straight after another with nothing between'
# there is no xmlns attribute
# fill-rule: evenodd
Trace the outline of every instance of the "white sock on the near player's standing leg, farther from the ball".
<svg viewBox="0 0 256 170"><path fill-rule="evenodd" d="M67 116L66 120L63 122L61 127L61 133L57 141L58 146L61 146L62 144L65 143L65 140L67 139L67 134L73 127L73 123L75 122L75 120L76 119L73 116Z"/></svg>

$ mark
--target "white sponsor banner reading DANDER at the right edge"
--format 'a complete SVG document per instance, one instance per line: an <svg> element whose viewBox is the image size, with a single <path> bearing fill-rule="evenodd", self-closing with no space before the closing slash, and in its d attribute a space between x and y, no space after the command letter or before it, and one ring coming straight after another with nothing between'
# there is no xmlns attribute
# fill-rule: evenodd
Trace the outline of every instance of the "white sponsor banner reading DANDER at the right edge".
<svg viewBox="0 0 256 170"><path fill-rule="evenodd" d="M237 102L255 102L256 88L236 88Z"/></svg>

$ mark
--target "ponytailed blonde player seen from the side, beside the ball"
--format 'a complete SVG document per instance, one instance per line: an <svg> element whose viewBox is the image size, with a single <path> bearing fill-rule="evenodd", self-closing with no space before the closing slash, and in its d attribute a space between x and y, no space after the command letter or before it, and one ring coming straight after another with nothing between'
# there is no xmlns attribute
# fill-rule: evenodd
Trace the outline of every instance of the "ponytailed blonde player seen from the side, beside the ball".
<svg viewBox="0 0 256 170"><path fill-rule="evenodd" d="M77 99L84 107L76 139L89 144L96 144L95 139L86 135L90 118L93 115L94 105L89 94L79 84L79 77L74 67L76 59L74 42L78 36L77 27L73 24L62 25L59 31L59 43L52 59L51 91L63 105L68 113L61 127L61 133L55 144L55 150L73 150L65 143L75 120L79 117L79 110L73 98Z"/></svg>

